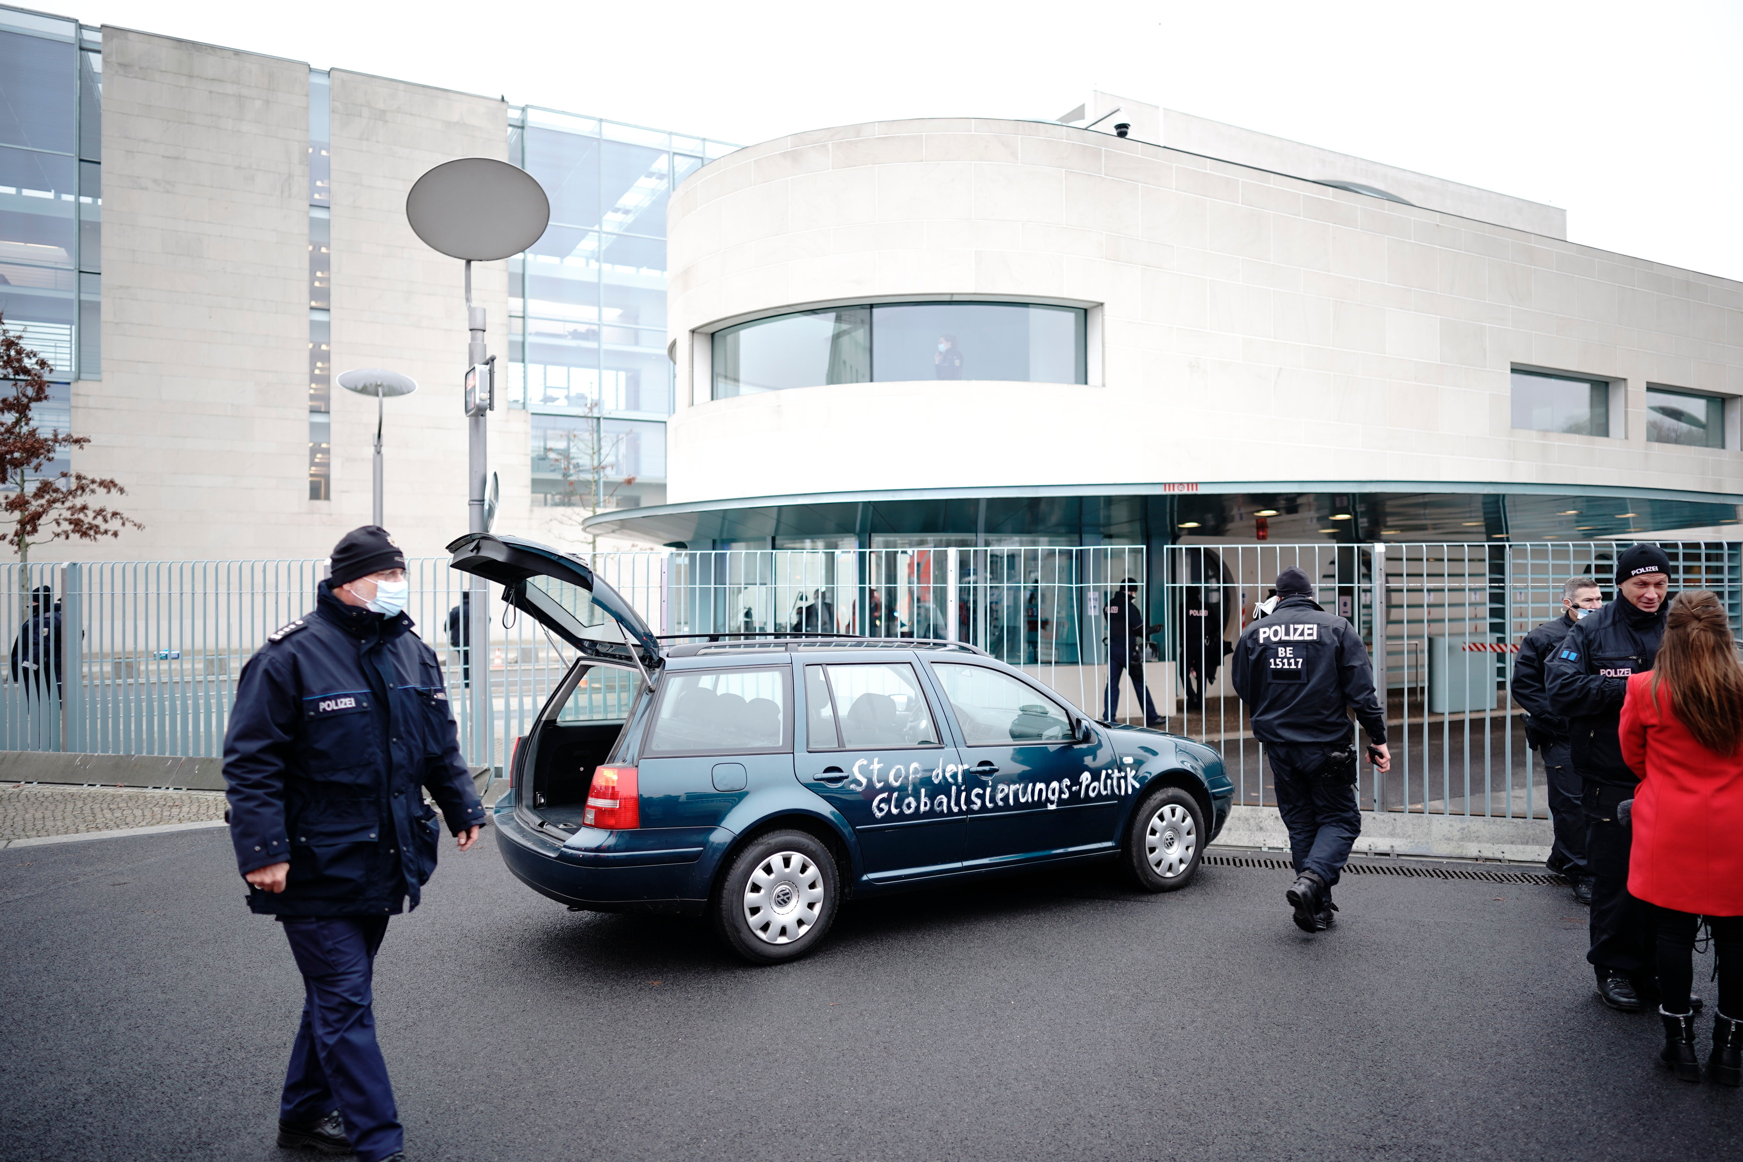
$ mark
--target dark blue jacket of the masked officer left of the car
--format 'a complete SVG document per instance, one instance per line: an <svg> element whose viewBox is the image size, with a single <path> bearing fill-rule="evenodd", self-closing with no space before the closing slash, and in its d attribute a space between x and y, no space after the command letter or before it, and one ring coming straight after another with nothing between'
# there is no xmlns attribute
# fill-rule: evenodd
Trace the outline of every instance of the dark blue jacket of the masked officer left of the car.
<svg viewBox="0 0 1743 1162"><path fill-rule="evenodd" d="M249 888L279 916L361 916L418 906L448 829L485 822L460 758L436 653L404 613L345 605L321 582L315 611L267 639L237 681L223 744L237 868L289 861L284 892Z"/></svg>

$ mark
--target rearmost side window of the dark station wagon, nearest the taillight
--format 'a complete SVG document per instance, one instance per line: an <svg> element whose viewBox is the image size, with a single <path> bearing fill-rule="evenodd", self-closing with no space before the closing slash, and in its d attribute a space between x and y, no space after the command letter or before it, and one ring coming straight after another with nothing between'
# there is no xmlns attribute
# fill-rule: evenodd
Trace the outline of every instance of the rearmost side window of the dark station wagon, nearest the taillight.
<svg viewBox="0 0 1743 1162"><path fill-rule="evenodd" d="M746 754L791 749L788 667L668 674L643 753Z"/></svg>

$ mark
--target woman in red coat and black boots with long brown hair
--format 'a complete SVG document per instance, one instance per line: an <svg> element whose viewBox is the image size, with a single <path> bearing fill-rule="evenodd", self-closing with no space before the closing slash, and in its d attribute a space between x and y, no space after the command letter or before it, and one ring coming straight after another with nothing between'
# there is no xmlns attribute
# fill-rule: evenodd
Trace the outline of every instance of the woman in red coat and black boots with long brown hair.
<svg viewBox="0 0 1743 1162"><path fill-rule="evenodd" d="M1665 1051L1687 1082L1694 1056L1694 936L1706 916L1719 958L1708 1068L1743 1082L1743 665L1710 592L1679 594L1652 669L1628 678L1623 758L1635 791L1628 892L1654 906Z"/></svg>

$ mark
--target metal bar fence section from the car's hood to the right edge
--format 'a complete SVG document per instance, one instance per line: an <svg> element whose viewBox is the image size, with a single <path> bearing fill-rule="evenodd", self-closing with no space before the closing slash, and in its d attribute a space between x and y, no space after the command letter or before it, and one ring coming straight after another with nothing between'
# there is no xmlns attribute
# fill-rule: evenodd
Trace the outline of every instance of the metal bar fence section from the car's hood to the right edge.
<svg viewBox="0 0 1743 1162"><path fill-rule="evenodd" d="M1363 765L1365 810L1548 817L1525 714L1508 695L1520 639L1562 613L1562 584L1614 596L1633 542L1173 545L1159 591L1180 700L1173 728L1222 747L1239 803L1274 801L1262 747L1229 686L1227 653L1286 566L1351 620L1386 692L1393 770ZM1672 589L1712 589L1743 622L1743 544L1659 542Z"/></svg>

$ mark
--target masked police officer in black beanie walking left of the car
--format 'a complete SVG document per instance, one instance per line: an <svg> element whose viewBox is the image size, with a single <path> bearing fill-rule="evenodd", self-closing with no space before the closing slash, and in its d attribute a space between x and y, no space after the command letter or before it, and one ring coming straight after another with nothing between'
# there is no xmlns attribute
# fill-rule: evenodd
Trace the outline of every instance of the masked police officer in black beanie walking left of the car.
<svg viewBox="0 0 1743 1162"><path fill-rule="evenodd" d="M371 976L387 918L436 869L420 787L462 852L485 824L436 653L404 615L404 570L385 530L347 533L315 611L242 667L223 751L248 906L277 916L303 974L279 1145L363 1162L404 1159Z"/></svg>

